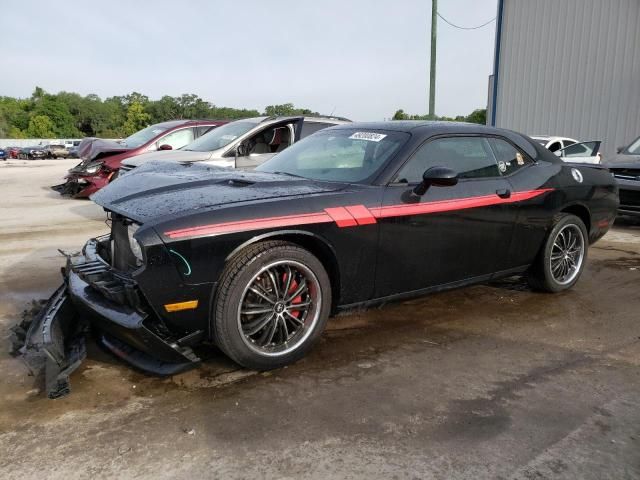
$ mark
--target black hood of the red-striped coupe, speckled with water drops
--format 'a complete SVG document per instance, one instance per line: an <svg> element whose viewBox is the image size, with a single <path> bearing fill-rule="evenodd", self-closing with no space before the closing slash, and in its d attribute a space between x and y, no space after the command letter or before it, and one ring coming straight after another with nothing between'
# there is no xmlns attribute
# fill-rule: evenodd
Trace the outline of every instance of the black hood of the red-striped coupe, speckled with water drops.
<svg viewBox="0 0 640 480"><path fill-rule="evenodd" d="M187 212L274 198L342 190L343 184L198 164L151 162L123 175L91 199L146 223Z"/></svg>

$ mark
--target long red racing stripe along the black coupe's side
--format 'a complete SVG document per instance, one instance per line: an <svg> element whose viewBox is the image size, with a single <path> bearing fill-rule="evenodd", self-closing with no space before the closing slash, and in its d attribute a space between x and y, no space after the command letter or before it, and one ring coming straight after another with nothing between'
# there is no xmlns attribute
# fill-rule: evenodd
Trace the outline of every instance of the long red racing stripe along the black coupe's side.
<svg viewBox="0 0 640 480"><path fill-rule="evenodd" d="M280 217L255 218L234 222L214 223L199 227L182 228L165 232L169 238L201 237L223 233L262 230L265 228L311 225L335 222L338 227L353 227L376 223L377 218L402 217L428 213L450 212L469 208L487 207L506 203L522 202L552 191L552 188L541 188L524 192L513 192L509 198L498 195L482 195L478 197L457 198L437 202L423 202L385 207L367 208L364 205L326 208L323 212L283 215Z"/></svg>

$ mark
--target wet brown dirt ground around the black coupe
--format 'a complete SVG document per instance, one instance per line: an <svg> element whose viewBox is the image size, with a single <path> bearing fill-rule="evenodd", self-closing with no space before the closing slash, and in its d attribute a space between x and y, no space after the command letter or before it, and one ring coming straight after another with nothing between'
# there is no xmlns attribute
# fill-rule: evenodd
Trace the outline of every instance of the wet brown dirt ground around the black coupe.
<svg viewBox="0 0 640 480"><path fill-rule="evenodd" d="M106 232L46 186L74 161L0 163L0 478L640 478L640 223L560 295L505 281L332 319L311 355L217 352L159 379L97 347L46 400L8 329Z"/></svg>

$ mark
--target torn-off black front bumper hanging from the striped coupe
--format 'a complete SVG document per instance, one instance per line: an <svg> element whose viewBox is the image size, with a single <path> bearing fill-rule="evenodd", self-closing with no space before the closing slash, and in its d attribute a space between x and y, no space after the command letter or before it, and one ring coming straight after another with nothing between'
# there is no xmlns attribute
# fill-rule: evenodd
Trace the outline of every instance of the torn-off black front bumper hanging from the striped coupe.
<svg viewBox="0 0 640 480"><path fill-rule="evenodd" d="M69 393L69 375L86 357L90 330L118 358L146 373L173 375L200 361L146 313L136 282L98 254L109 240L90 240L81 254L68 256L63 285L33 321L13 330L14 351L38 381L44 380L49 398Z"/></svg>

